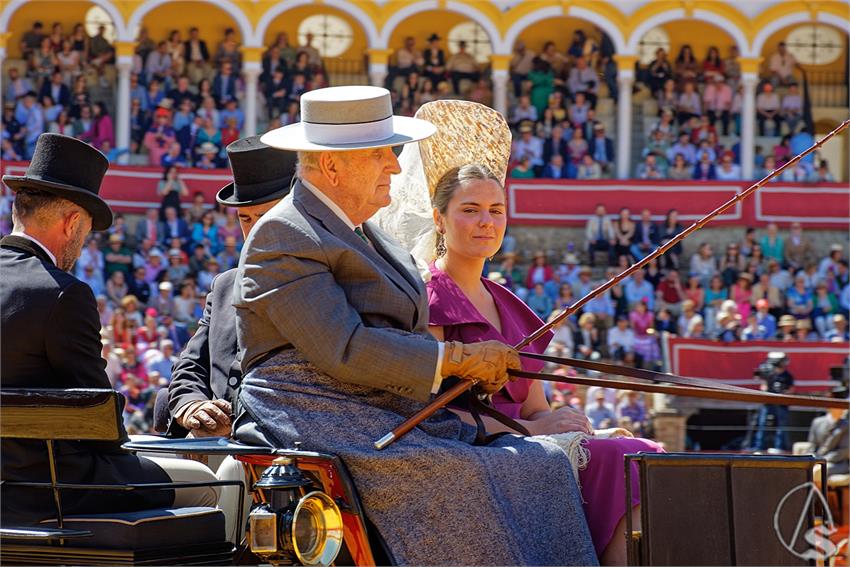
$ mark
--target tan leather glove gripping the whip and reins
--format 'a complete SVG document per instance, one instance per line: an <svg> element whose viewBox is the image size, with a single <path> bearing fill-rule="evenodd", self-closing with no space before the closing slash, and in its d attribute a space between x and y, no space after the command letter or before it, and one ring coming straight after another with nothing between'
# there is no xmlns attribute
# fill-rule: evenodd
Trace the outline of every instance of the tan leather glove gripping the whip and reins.
<svg viewBox="0 0 850 567"><path fill-rule="evenodd" d="M508 369L519 370L519 354L510 346L499 341L483 341L464 344L446 341L443 352L443 377L458 376L467 380L478 380L478 385L488 394L495 394L505 382L514 380Z"/></svg>

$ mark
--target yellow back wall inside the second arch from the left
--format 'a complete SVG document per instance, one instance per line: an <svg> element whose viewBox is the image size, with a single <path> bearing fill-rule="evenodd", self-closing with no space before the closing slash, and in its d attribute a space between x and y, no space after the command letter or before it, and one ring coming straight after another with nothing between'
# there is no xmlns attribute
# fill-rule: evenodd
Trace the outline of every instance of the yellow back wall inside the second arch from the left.
<svg viewBox="0 0 850 567"><path fill-rule="evenodd" d="M154 41L168 39L168 34L174 29L179 30L185 40L189 36L189 28L196 26L211 55L227 28L233 28L237 40L244 42L239 26L230 14L208 2L167 2L148 12L142 25L148 28L148 34Z"/></svg>

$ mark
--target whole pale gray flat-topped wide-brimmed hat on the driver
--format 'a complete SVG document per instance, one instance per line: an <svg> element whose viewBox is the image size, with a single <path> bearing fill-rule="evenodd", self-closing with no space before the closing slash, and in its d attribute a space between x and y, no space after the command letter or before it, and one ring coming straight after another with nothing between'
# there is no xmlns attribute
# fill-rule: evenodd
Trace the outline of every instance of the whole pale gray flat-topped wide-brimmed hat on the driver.
<svg viewBox="0 0 850 567"><path fill-rule="evenodd" d="M435 131L426 120L393 116L387 89L329 87L301 95L301 122L266 132L260 141L298 152L347 151L417 142Z"/></svg>

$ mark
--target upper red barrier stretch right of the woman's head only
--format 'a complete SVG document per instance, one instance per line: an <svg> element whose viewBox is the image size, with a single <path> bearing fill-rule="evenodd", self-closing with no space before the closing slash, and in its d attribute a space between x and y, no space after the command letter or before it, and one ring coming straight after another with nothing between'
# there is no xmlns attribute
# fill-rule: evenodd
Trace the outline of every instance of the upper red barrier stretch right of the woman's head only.
<svg viewBox="0 0 850 567"><path fill-rule="evenodd" d="M654 221L670 209L683 224L698 220L736 193L746 182L643 180L508 180L508 215L520 225L582 226L597 204L609 214L622 207L634 217L648 208ZM748 199L735 203L713 225L764 226L797 220L807 228L846 230L850 227L850 187L842 183L800 185L771 183Z"/></svg>

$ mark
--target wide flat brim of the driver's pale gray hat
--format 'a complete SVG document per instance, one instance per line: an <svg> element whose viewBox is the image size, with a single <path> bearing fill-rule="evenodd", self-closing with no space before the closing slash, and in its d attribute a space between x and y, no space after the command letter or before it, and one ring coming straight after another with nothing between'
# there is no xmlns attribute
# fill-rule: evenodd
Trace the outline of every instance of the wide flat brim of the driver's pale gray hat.
<svg viewBox="0 0 850 567"><path fill-rule="evenodd" d="M401 146L424 140L432 136L436 131L436 127L427 120L407 116L393 116L393 135L389 138L372 142L357 142L353 144L318 144L311 142L307 139L303 122L296 122L295 124L266 132L260 137L260 141L273 148L295 152L345 152Z"/></svg>

